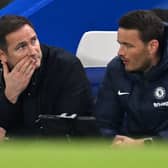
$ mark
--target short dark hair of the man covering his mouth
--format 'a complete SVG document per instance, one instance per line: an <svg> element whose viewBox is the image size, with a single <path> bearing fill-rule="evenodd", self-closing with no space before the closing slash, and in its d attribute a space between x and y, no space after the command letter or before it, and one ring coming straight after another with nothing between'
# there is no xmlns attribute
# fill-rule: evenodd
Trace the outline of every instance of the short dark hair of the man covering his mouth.
<svg viewBox="0 0 168 168"><path fill-rule="evenodd" d="M23 16L4 15L0 17L0 48L7 52L6 36L28 24L33 29L32 23Z"/></svg>

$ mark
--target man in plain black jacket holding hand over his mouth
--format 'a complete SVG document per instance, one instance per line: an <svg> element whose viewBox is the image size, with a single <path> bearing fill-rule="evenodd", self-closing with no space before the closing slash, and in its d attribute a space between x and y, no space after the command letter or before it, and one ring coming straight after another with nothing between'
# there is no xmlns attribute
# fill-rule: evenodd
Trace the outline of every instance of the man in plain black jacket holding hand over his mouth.
<svg viewBox="0 0 168 168"><path fill-rule="evenodd" d="M6 131L33 131L39 114L89 115L89 82L80 61L40 45L22 16L0 17L0 139Z"/></svg>

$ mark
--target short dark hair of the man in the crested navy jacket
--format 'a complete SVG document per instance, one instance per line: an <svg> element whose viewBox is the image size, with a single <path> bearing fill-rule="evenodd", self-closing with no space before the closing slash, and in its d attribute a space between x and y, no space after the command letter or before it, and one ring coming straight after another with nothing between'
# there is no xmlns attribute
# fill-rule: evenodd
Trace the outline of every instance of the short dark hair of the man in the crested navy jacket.
<svg viewBox="0 0 168 168"><path fill-rule="evenodd" d="M144 43L152 39L159 41L159 51L163 45L164 24L162 20L149 10L131 11L121 17L119 27L124 29L135 29L139 31Z"/></svg>

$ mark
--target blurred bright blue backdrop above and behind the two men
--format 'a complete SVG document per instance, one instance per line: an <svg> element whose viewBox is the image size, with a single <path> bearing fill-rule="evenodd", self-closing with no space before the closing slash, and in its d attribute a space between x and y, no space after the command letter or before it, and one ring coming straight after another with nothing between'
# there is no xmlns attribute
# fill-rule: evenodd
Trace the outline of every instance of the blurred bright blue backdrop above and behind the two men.
<svg viewBox="0 0 168 168"><path fill-rule="evenodd" d="M168 8L167 0L0 0L0 16L28 17L42 43L73 54L82 34L90 30L117 30L118 19L136 9Z"/></svg>

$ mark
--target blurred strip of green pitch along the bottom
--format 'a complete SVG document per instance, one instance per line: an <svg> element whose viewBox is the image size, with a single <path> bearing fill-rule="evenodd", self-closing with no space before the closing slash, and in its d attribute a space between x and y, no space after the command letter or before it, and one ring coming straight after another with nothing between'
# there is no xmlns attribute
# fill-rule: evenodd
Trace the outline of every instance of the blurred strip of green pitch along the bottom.
<svg viewBox="0 0 168 168"><path fill-rule="evenodd" d="M102 140L31 139L0 143L0 168L163 168L168 146L113 148Z"/></svg>

